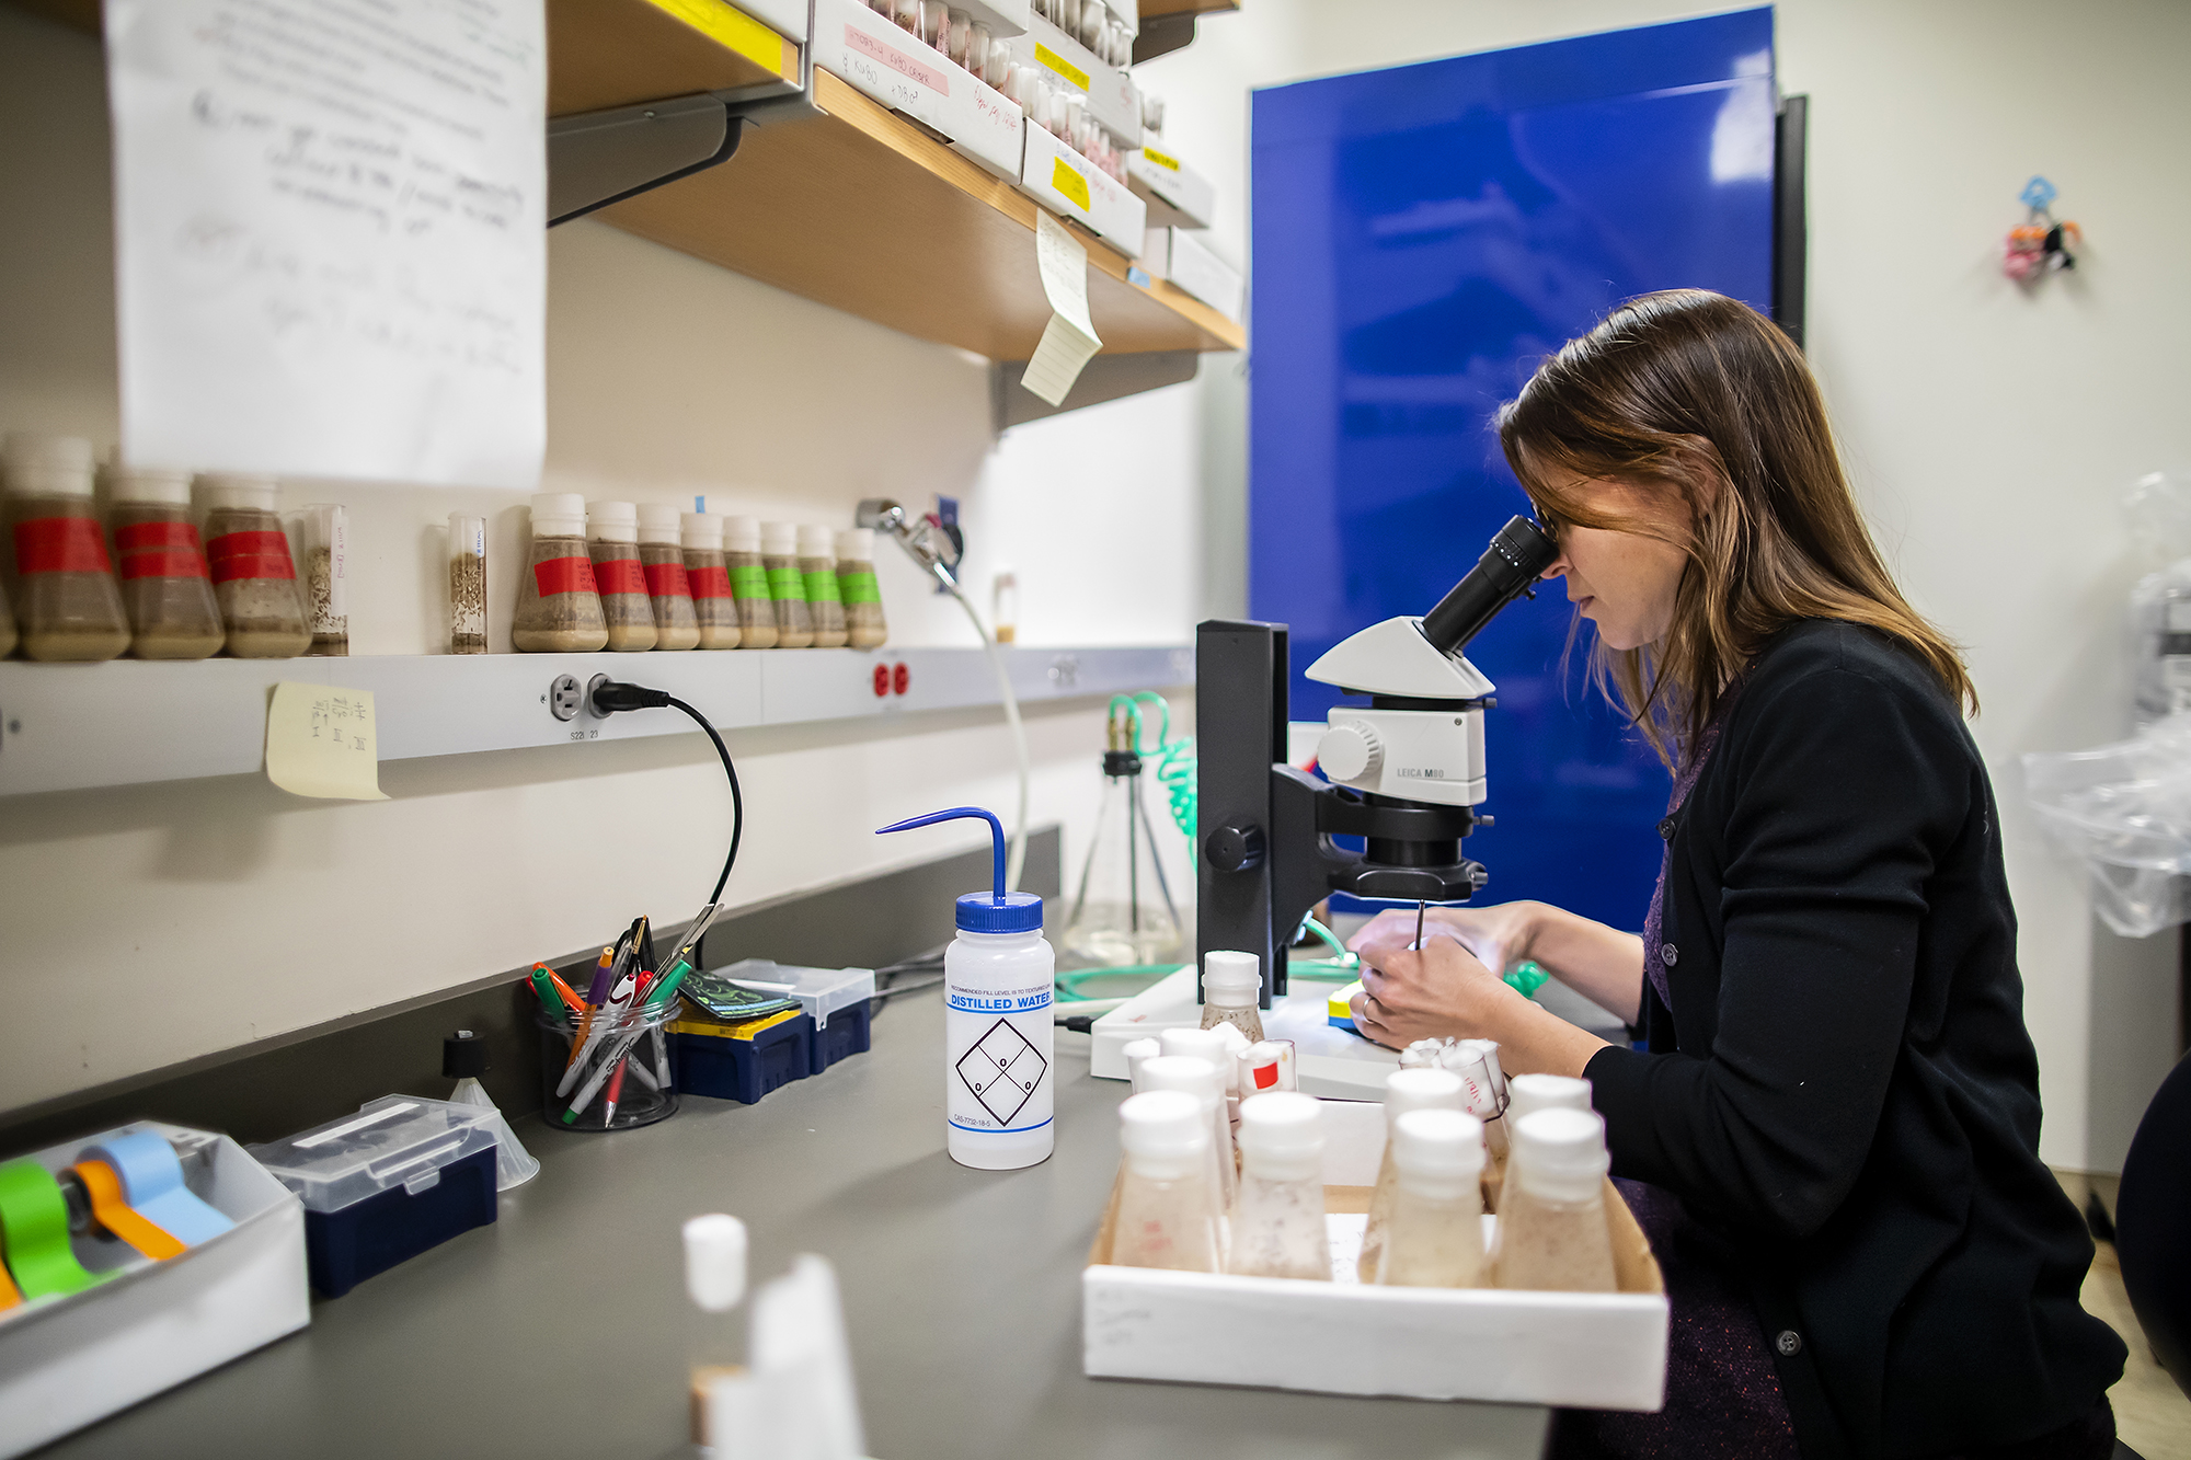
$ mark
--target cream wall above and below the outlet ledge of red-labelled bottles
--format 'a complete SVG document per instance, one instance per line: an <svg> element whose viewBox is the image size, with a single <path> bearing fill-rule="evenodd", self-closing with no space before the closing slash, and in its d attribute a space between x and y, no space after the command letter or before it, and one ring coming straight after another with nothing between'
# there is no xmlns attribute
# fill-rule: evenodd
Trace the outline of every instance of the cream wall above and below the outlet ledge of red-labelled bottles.
<svg viewBox="0 0 2191 1460"><path fill-rule="evenodd" d="M0 7L0 427L116 436L105 112L96 46ZM863 495L962 498L968 583L1021 581L1021 642L1190 642L1201 598L1196 397L1174 386L988 427L986 364L673 254L605 224L550 235L548 482L589 495L850 524ZM285 484L351 504L353 651L440 647L449 511L489 513L497 634L521 493ZM887 550L896 642L973 645ZM55 669L59 686L72 671ZM1185 699L1185 697L1181 697ZM1192 706L1185 719L1192 721ZM1030 712L1032 818L1078 870L1100 702ZM973 846L874 826L1010 811L995 712L730 734L760 901ZM0 800L0 1109L449 989L690 916L727 794L706 741L592 743L381 767L392 800L307 802L234 776ZM1192 883L1188 883L1192 886ZM94 1002L55 1000L83 989Z"/></svg>

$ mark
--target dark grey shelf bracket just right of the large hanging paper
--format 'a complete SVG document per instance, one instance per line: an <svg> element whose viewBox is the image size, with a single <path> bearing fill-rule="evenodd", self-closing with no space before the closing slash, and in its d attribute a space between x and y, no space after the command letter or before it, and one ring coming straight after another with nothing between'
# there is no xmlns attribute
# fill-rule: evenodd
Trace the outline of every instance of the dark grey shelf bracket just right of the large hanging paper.
<svg viewBox="0 0 2191 1460"><path fill-rule="evenodd" d="M673 96L548 123L548 226L690 178L738 151L745 118L719 96Z"/></svg>

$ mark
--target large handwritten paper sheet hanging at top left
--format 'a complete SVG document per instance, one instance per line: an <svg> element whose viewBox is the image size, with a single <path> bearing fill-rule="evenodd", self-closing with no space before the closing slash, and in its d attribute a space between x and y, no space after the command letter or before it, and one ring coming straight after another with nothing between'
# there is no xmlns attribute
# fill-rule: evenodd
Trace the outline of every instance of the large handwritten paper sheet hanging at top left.
<svg viewBox="0 0 2191 1460"><path fill-rule="evenodd" d="M539 484L541 0L105 0L123 452Z"/></svg>

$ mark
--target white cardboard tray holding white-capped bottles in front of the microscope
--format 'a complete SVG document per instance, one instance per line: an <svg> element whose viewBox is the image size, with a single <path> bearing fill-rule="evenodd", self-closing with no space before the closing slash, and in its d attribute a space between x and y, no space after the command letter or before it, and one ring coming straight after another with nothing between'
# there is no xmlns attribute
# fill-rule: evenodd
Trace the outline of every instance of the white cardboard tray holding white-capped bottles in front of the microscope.
<svg viewBox="0 0 2191 1460"><path fill-rule="evenodd" d="M1665 1280L1610 1182L1619 1293L1363 1287L1350 1278L1385 1111L1326 1100L1323 1116L1334 1280L1111 1267L1104 1214L1080 1274L1089 1377L1586 1410L1665 1403ZM1488 1236L1494 1219L1483 1221Z"/></svg>

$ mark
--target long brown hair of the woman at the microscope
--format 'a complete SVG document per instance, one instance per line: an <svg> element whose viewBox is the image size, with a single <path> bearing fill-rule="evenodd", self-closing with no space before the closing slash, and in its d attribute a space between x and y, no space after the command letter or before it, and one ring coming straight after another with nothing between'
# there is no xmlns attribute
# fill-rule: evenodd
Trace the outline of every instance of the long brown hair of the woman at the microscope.
<svg viewBox="0 0 2191 1460"><path fill-rule="evenodd" d="M1499 445L1553 537L1564 524L1641 531L1687 552L1663 640L1591 647L1591 680L1667 765L1797 618L1900 640L1978 712L1961 651L1908 605L1865 528L1810 366L1748 305L1707 289L1628 300L1499 408ZM1599 480L1689 528L1608 515L1578 491Z"/></svg>

